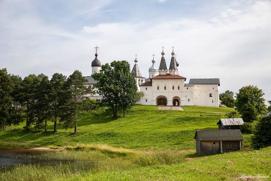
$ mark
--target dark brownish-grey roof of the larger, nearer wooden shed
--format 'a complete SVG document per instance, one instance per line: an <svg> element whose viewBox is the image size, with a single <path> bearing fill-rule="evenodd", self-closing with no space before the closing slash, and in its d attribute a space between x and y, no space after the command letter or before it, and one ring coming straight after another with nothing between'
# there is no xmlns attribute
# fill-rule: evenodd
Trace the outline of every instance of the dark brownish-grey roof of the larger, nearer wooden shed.
<svg viewBox="0 0 271 181"><path fill-rule="evenodd" d="M197 130L194 139L200 141L240 141L240 130Z"/></svg>

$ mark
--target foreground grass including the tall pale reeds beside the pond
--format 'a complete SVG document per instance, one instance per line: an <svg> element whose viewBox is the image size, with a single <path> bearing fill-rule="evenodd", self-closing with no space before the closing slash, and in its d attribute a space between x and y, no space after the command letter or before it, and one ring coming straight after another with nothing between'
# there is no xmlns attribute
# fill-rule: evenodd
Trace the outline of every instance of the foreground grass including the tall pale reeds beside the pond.
<svg viewBox="0 0 271 181"><path fill-rule="evenodd" d="M35 162L0 170L1 181L247 181L271 178L271 147L211 156L177 150L135 151L105 145L17 155ZM80 151L78 151L80 150ZM250 179L249 181L257 181ZM261 180L268 180L261 179Z"/></svg>

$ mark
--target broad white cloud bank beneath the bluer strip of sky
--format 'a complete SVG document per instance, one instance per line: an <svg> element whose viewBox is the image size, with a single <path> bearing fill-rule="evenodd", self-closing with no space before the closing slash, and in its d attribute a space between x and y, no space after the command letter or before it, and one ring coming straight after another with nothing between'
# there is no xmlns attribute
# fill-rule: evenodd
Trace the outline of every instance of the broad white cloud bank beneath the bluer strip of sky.
<svg viewBox="0 0 271 181"><path fill-rule="evenodd" d="M132 67L137 53L140 71L148 76L151 55L155 53L159 67L161 47L165 46L169 65L173 45L180 62L179 73L188 80L218 77L221 91L235 92L241 86L254 84L271 100L271 85L267 83L271 79L270 1L226 8L209 19L180 17L157 24L151 20L86 24L76 33L43 22L32 8L26 3L22 9L28 9L29 14L20 18L14 18L16 12L0 12L0 64L9 72L68 75L79 69L90 75L94 47L98 45L102 63L128 60Z"/></svg>

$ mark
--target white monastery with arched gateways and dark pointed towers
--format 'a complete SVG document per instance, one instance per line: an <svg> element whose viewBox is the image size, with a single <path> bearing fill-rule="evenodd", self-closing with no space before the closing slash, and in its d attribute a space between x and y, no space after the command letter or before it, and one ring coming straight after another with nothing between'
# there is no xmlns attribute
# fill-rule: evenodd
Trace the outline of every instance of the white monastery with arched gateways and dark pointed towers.
<svg viewBox="0 0 271 181"><path fill-rule="evenodd" d="M97 50L97 48L96 48ZM179 75L175 53L172 49L169 69L165 59L164 48L159 69L155 66L155 60L152 60L152 66L149 68L149 77L141 75L135 58L135 65L131 73L135 77L138 91L144 92L144 97L137 103L140 105L157 106L207 106L219 107L219 78L191 78L186 83L186 78ZM92 74L99 72L102 64L97 58L92 61ZM153 55L154 57L154 55ZM91 76L85 77L87 86L93 85L96 81ZM91 99L101 99L99 94L88 95Z"/></svg>

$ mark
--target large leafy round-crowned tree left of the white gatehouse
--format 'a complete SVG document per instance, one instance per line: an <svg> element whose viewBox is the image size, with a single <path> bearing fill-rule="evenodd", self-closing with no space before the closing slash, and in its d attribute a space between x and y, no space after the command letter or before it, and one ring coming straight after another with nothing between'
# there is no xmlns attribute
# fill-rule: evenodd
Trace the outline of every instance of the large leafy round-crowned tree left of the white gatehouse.
<svg viewBox="0 0 271 181"><path fill-rule="evenodd" d="M141 94L136 93L135 78L127 61L105 64L100 73L95 73L92 77L97 80L94 86L102 95L101 105L108 107L113 112L114 118L117 117L118 110L123 110L125 116L125 111L140 99Z"/></svg>

